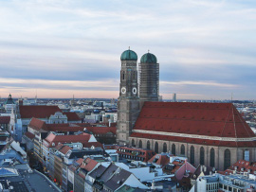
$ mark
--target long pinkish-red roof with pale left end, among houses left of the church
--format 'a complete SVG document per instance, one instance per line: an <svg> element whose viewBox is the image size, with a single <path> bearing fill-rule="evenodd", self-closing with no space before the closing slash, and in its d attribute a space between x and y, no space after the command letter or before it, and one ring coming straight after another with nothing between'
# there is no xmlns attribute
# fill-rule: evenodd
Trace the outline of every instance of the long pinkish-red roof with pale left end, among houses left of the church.
<svg viewBox="0 0 256 192"><path fill-rule="evenodd" d="M48 148L53 147L52 144L54 143L55 146L58 145L59 143L75 143L75 142L80 142L82 144L86 144L88 143L89 139L90 139L91 135L90 134L86 134L86 133L82 133L79 135L55 135L53 133L50 133L45 141L48 144Z"/></svg>

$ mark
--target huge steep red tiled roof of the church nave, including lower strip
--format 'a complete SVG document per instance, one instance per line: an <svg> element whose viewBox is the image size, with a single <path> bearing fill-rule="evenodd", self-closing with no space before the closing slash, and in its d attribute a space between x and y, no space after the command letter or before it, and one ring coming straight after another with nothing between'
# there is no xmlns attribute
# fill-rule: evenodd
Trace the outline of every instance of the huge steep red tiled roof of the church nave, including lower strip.
<svg viewBox="0 0 256 192"><path fill-rule="evenodd" d="M255 134L231 103L145 102L134 130L166 131L217 137L249 138ZM133 132L132 137L254 147L255 142L225 142Z"/></svg>

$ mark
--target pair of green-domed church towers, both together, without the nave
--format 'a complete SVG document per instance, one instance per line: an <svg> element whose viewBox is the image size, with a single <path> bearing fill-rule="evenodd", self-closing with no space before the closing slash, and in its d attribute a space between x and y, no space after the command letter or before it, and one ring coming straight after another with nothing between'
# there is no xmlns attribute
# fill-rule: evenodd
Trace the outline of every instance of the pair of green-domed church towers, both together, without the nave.
<svg viewBox="0 0 256 192"><path fill-rule="evenodd" d="M141 57L137 71L137 54L130 49L121 54L120 61L117 142L128 145L143 103L158 101L159 63L155 55L146 53Z"/></svg>

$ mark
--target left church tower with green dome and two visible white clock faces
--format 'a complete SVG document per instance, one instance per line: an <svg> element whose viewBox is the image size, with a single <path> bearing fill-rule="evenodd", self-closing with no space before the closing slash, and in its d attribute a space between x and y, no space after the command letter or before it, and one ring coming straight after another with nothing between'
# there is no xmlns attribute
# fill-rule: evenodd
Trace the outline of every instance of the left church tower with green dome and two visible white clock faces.
<svg viewBox="0 0 256 192"><path fill-rule="evenodd" d="M119 145L127 145L139 113L137 54L130 49L126 50L120 60L117 142Z"/></svg>

